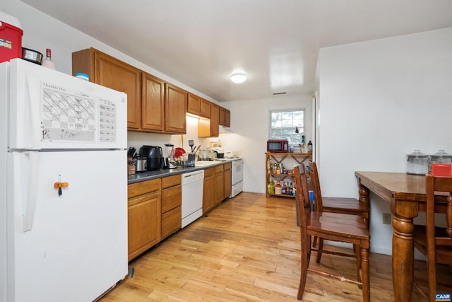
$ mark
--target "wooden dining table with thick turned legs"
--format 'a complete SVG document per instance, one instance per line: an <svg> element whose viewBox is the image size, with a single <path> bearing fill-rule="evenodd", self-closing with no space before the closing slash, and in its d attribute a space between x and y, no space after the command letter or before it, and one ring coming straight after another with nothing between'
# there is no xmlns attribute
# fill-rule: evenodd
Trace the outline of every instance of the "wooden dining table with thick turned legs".
<svg viewBox="0 0 452 302"><path fill-rule="evenodd" d="M413 218L425 211L425 175L356 171L359 201L369 205L369 192L388 202L393 214L394 301L411 301L414 277ZM446 196L436 195L435 211L446 211Z"/></svg>

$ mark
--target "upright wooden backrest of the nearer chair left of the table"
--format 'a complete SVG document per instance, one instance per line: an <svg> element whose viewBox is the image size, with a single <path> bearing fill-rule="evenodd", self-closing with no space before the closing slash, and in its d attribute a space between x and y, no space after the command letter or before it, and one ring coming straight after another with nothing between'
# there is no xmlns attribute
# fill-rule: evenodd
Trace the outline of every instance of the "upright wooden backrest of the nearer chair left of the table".
<svg viewBox="0 0 452 302"><path fill-rule="evenodd" d="M299 208L298 217L302 249L306 249L309 252L311 250L311 238L307 233L307 216L310 216L311 208L309 205L308 180L304 165L295 165L294 179L295 194Z"/></svg>

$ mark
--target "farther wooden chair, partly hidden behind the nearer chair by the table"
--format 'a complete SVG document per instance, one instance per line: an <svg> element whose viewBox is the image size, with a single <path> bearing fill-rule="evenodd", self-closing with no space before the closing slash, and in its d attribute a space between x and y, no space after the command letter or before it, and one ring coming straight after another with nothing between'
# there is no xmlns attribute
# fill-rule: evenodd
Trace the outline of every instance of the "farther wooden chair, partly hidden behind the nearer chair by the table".
<svg viewBox="0 0 452 302"><path fill-rule="evenodd" d="M364 202L359 202L356 198L347 197L323 197L320 188L319 170L314 161L309 160L309 173L311 185L314 189L314 207L316 211L328 213L354 214L362 217L362 220L369 228L369 207ZM313 246L316 247L317 238L314 237ZM319 250L323 248L323 240L319 240ZM322 254L317 254L316 262L320 263Z"/></svg>

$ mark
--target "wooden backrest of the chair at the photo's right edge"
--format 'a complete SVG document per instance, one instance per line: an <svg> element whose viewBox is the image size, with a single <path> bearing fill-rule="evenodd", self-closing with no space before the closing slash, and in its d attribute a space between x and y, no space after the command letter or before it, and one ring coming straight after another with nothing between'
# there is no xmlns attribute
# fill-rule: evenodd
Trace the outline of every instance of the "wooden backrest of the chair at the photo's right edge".
<svg viewBox="0 0 452 302"><path fill-rule="evenodd" d="M427 248L434 250L434 245L452 246L452 178L435 177L427 174L425 182L425 192L427 193ZM435 192L444 192L447 197L446 208L446 234L444 236L434 236L435 234Z"/></svg>

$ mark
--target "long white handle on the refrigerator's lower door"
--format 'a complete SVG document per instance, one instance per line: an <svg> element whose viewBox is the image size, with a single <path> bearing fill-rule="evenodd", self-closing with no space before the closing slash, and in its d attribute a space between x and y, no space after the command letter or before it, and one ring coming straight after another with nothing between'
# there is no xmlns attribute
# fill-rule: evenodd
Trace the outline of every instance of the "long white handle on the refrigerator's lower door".
<svg viewBox="0 0 452 302"><path fill-rule="evenodd" d="M37 199L37 177L38 177L38 163L40 154L37 151L26 152L30 157L30 177L28 180L28 196L25 211L23 213L23 229L22 232L31 231L33 226L33 219L35 218L35 206Z"/></svg>

